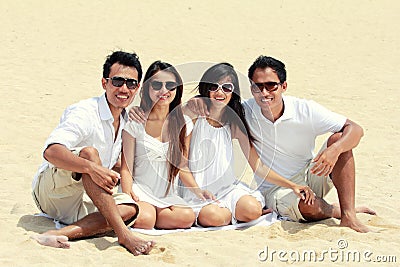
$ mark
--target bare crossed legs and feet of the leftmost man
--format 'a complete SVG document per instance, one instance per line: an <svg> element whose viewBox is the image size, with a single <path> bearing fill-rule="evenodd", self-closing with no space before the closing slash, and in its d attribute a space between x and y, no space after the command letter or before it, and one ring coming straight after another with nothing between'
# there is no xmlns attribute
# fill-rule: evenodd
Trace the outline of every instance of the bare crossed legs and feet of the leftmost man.
<svg viewBox="0 0 400 267"><path fill-rule="evenodd" d="M97 150L84 148L80 156L101 164ZM133 205L116 205L112 195L92 181L89 175L82 175L82 183L87 195L98 208L99 212L89 214L77 222L58 230L50 230L32 237L42 245L68 248L67 240L91 237L114 230L118 243L134 255L148 254L154 246L153 241L142 240L126 227L124 221L132 219L136 213Z"/></svg>

